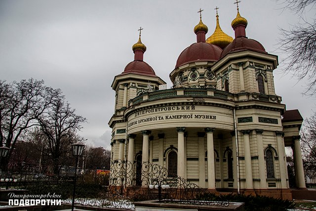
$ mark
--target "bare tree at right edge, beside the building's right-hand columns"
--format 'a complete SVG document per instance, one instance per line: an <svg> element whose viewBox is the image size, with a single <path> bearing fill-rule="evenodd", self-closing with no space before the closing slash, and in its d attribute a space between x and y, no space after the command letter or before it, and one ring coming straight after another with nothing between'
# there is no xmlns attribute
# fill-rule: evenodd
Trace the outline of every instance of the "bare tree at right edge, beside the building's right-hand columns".
<svg viewBox="0 0 316 211"><path fill-rule="evenodd" d="M316 113L305 119L301 132L302 154L304 169L310 178L316 177Z"/></svg>

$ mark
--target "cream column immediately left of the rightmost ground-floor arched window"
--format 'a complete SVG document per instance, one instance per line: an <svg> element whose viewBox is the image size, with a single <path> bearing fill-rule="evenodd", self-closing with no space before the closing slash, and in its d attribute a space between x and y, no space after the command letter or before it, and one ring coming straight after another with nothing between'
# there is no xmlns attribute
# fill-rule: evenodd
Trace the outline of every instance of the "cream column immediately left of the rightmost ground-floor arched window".
<svg viewBox="0 0 316 211"><path fill-rule="evenodd" d="M266 165L265 165L265 153L263 149L263 139L262 139L262 129L256 129L257 133L257 149L258 149L258 163L259 163L259 178L260 178L260 188L267 189L266 181Z"/></svg>

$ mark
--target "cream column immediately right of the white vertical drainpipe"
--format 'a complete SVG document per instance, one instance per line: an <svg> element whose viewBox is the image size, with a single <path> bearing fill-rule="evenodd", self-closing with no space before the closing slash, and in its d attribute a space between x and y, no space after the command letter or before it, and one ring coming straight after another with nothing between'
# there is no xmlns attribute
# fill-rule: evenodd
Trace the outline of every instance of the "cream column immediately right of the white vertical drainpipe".
<svg viewBox="0 0 316 211"><path fill-rule="evenodd" d="M245 153L245 174L246 174L245 188L253 189L250 139L249 139L250 130L242 130L241 132L243 134L243 145L244 145L244 153Z"/></svg>

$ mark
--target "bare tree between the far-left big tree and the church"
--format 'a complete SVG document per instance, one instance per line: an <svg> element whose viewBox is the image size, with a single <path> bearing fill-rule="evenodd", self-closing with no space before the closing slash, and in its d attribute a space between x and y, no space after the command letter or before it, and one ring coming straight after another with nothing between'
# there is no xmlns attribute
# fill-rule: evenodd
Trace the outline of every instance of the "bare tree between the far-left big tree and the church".
<svg viewBox="0 0 316 211"><path fill-rule="evenodd" d="M55 98L47 111L39 117L40 130L47 139L47 148L50 153L53 170L59 174L61 157L71 151L71 144L77 142L79 137L77 131L81 124L86 121L77 115L75 109L65 102L65 97L59 95Z"/></svg>

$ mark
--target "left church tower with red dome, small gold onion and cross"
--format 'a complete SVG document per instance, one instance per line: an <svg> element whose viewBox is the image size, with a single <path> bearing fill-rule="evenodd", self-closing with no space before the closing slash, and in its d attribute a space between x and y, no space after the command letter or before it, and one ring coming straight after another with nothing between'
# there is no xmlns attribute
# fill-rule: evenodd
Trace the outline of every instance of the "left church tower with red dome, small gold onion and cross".
<svg viewBox="0 0 316 211"><path fill-rule="evenodd" d="M132 46L134 52L134 61L128 63L124 71L114 78L112 88L115 90L115 112L109 125L112 128L112 159L124 159L124 144L126 135L126 120L124 119L124 111L128 107L129 100L143 94L159 89L159 85L166 84L161 80L154 69L144 60L144 53L147 49L146 45L141 41L141 30L139 31L139 39Z"/></svg>

